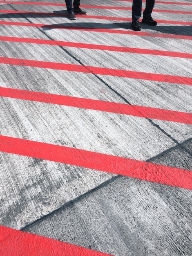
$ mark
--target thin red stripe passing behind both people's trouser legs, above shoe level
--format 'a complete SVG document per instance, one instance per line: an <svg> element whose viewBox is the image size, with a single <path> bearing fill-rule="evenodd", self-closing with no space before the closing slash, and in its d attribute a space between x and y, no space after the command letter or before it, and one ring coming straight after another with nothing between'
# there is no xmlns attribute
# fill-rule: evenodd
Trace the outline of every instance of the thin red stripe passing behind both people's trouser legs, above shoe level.
<svg viewBox="0 0 192 256"><path fill-rule="evenodd" d="M43 2L20 2L20 1L0 1L3 4L31 4L31 5L51 5L51 6L66 6L66 4L58 3L43 3ZM132 7L118 7L118 6L98 6L98 5L83 5L82 8L91 8L91 9L114 9L114 10L132 10ZM144 9L142 9L144 11ZM167 13L182 13L182 14L192 14L192 11L175 11L175 10L159 10L153 9L153 12L167 12Z"/></svg>

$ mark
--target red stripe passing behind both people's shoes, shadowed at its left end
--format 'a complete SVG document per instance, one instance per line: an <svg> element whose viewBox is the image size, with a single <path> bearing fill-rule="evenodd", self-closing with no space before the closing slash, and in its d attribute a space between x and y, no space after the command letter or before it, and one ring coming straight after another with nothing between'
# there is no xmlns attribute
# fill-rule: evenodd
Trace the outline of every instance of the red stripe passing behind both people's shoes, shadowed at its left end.
<svg viewBox="0 0 192 256"><path fill-rule="evenodd" d="M51 17L67 17L67 13L53 13L53 12L38 12L38 11L10 11L0 10L0 13L13 13L13 14L29 14L29 15L42 15ZM121 18L121 17L109 17L109 16L94 16L94 15L79 15L78 18L92 18L100 20L121 20L121 21L132 21L132 18ZM155 19L156 20L156 19ZM165 24L177 24L177 25L192 25L192 22L187 21L176 21L176 20L156 20L158 23Z"/></svg>

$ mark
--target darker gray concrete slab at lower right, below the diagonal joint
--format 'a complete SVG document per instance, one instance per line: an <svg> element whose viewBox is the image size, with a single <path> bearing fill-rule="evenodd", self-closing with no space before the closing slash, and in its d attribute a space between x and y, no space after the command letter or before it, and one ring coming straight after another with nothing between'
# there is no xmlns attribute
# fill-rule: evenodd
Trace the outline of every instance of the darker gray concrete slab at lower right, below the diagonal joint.
<svg viewBox="0 0 192 256"><path fill-rule="evenodd" d="M191 142L184 146L190 150ZM178 148L153 162L191 168L185 153ZM25 231L116 256L189 256L191 196L186 189L120 177Z"/></svg>

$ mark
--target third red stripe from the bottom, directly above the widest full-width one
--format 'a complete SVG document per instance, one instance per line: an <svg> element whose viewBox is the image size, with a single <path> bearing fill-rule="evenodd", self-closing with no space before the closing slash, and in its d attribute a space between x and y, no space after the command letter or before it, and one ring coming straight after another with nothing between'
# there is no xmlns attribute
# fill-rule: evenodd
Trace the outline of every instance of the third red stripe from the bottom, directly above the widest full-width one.
<svg viewBox="0 0 192 256"><path fill-rule="evenodd" d="M192 114L190 113L164 110L159 108L133 106L122 103L83 99L77 97L55 95L42 92L31 92L26 90L10 89L3 87L0 87L0 96L14 99L52 103L76 108L86 108L117 114L132 115L137 117L147 117L184 124L192 124Z"/></svg>

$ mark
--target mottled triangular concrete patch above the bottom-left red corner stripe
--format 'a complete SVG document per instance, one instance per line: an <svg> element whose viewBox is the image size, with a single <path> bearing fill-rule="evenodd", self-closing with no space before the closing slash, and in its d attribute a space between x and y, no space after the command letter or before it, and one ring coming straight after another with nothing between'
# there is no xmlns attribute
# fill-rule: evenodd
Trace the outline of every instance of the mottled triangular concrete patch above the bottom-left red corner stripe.
<svg viewBox="0 0 192 256"><path fill-rule="evenodd" d="M0 153L0 224L20 229L114 175Z"/></svg>

